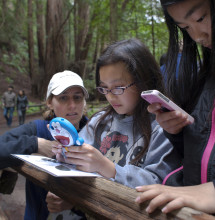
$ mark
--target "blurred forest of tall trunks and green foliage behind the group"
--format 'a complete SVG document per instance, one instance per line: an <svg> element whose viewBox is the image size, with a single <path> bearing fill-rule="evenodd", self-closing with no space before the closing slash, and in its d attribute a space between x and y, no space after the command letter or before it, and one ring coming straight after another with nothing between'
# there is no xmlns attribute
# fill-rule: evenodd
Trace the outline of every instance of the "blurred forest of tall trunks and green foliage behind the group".
<svg viewBox="0 0 215 220"><path fill-rule="evenodd" d="M168 31L159 0L0 0L0 95L8 85L42 101L54 73L84 79L90 100L95 63L110 42L138 38L159 62Z"/></svg>

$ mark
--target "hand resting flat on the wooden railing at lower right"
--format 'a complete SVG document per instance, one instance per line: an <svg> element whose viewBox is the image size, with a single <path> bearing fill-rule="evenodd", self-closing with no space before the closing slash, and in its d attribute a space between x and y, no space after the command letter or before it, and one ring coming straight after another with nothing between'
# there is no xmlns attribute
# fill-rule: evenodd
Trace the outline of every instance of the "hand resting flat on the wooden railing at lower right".
<svg viewBox="0 0 215 220"><path fill-rule="evenodd" d="M146 208L148 213L158 207L163 207L161 211L164 213L182 207L190 207L207 213L215 212L215 190L212 182L187 187L140 186L136 187L136 190L142 192L135 200L137 203L151 200Z"/></svg>

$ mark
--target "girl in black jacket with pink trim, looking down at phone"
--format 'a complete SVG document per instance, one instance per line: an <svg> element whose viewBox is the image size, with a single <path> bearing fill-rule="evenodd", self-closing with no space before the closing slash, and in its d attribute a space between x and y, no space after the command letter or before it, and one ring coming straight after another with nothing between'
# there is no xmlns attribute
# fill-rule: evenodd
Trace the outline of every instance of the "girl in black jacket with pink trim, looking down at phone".
<svg viewBox="0 0 215 220"><path fill-rule="evenodd" d="M147 212L158 207L168 213L191 207L215 213L215 0L161 0L169 29L168 95L190 113L190 124L177 111L162 113L149 106L183 159L183 187L140 186L141 203L151 200ZM178 41L183 37L179 78L175 77ZM199 66L197 65L199 64ZM169 175L168 179L176 175ZM168 179L166 179L168 181Z"/></svg>

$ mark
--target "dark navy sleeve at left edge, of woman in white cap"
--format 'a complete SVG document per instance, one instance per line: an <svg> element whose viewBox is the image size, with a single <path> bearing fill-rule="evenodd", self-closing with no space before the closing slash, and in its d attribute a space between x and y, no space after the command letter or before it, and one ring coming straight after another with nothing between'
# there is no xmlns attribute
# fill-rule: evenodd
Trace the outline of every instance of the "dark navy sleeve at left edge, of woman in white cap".
<svg viewBox="0 0 215 220"><path fill-rule="evenodd" d="M38 151L34 122L11 129L0 136L0 169L18 165L11 154L32 154Z"/></svg>

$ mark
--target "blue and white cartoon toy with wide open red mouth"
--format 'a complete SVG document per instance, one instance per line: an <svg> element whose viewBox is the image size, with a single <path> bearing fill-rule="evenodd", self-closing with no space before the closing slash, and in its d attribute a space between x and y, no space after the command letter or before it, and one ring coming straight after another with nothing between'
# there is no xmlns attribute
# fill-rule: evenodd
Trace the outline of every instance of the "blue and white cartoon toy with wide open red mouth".
<svg viewBox="0 0 215 220"><path fill-rule="evenodd" d="M78 136L76 128L65 118L56 117L52 119L49 124L49 131L52 137L63 145L64 157L68 146L80 146L84 143L83 138Z"/></svg>

